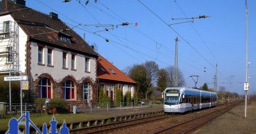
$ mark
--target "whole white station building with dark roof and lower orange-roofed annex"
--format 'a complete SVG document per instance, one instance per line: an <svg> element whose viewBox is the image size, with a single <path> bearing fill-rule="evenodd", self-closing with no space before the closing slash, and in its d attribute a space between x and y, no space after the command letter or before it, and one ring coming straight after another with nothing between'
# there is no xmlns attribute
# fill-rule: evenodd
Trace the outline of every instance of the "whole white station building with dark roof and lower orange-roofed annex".
<svg viewBox="0 0 256 134"><path fill-rule="evenodd" d="M114 101L117 88L133 94L135 87L58 14L33 10L24 0L0 0L0 73L9 71L28 75L32 102L35 98L97 102L102 86Z"/></svg>

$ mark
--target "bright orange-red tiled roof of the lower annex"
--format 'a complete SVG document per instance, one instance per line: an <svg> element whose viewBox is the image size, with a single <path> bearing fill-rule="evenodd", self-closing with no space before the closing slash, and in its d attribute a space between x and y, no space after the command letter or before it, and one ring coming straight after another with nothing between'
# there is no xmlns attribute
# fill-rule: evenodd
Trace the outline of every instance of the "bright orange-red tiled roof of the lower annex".
<svg viewBox="0 0 256 134"><path fill-rule="evenodd" d="M106 72L101 71L100 67L102 67ZM116 74L113 74L110 69L112 69ZM108 60L106 60L100 55L97 59L97 75L98 79L100 80L114 80L117 82L127 82L130 84L136 84L136 82L133 79L125 75L125 73L117 69L117 67L115 67L112 63L110 63Z"/></svg>

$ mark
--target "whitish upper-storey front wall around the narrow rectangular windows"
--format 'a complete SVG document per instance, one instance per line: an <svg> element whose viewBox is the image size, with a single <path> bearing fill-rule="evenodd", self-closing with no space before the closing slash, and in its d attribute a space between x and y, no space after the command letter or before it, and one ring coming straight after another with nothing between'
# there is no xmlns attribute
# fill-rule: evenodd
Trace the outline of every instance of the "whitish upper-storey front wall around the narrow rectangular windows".
<svg viewBox="0 0 256 134"><path fill-rule="evenodd" d="M62 78L72 75L75 80L81 80L83 77L89 76L93 80L96 80L96 58L90 58L90 73L85 72L85 56L81 54L75 55L75 69L76 71L71 70L71 57L72 53L67 53L67 64L68 70L62 69L62 50L58 48L53 48L53 67L47 67L47 49L49 47L45 46L43 48L43 66L37 65L38 63L38 46L36 42L31 42L31 73L33 79L37 79L37 76L48 73L51 75L56 82L60 82ZM66 52L66 51L65 51ZM37 76L35 76L37 74Z"/></svg>

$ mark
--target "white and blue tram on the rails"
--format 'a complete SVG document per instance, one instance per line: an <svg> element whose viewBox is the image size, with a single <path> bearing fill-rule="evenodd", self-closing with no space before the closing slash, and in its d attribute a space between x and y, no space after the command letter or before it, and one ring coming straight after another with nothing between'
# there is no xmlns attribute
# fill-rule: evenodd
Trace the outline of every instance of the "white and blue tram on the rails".
<svg viewBox="0 0 256 134"><path fill-rule="evenodd" d="M186 112L217 105L217 93L194 88L166 88L163 98L164 112Z"/></svg>

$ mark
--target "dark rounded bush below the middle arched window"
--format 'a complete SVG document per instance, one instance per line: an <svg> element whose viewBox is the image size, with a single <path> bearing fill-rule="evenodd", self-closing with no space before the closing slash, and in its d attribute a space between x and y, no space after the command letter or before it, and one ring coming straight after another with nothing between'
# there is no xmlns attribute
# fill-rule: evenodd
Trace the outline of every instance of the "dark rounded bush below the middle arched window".
<svg viewBox="0 0 256 134"><path fill-rule="evenodd" d="M57 113L69 112L65 99L51 99L51 101L47 103L47 108L50 112L54 109L56 109Z"/></svg>

